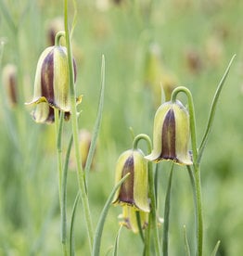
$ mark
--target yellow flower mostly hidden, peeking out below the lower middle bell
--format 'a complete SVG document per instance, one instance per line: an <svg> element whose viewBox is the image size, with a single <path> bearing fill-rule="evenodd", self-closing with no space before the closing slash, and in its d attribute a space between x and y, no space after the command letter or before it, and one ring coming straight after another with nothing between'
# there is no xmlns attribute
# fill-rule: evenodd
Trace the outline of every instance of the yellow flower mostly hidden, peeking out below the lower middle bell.
<svg viewBox="0 0 243 256"><path fill-rule="evenodd" d="M148 224L148 212L138 211L133 206L123 205L122 213L118 216L121 220L120 224L131 229L134 233L138 233L139 225L142 229L145 229ZM137 215L139 218L137 218ZM140 222L140 223L138 223Z"/></svg>

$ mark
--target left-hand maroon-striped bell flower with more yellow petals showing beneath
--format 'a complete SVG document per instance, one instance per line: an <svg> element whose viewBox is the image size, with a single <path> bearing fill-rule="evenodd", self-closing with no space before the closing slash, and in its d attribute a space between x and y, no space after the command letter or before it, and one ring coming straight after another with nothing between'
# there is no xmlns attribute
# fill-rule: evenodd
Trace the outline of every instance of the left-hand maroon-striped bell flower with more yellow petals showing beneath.
<svg viewBox="0 0 243 256"><path fill-rule="evenodd" d="M73 67L76 80L74 59ZM70 88L66 47L55 45L44 50L37 64L32 102L27 104L37 104L32 114L36 122L53 122L52 108L64 111L65 118L69 118Z"/></svg>

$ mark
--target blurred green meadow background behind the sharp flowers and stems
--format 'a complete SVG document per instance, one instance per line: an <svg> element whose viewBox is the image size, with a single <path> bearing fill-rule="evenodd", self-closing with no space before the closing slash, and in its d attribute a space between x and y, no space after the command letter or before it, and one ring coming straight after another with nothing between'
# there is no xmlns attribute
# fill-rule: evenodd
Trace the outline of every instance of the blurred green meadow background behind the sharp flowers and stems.
<svg viewBox="0 0 243 256"><path fill-rule="evenodd" d="M48 29L53 19L62 18L63 4L58 0L0 2L0 73L3 78L6 64L16 65L22 96L17 106L9 106L1 78L0 255L60 255L55 127L34 123L32 109L23 103L32 99L37 60L50 45ZM230 58L237 54L216 111L201 179L204 255L210 255L218 240L217 255L241 255L243 2L77 0L76 4L72 49L78 70L77 92L83 95L79 123L90 131L96 121L101 56L106 58L105 107L94 172L88 178L95 225L113 186L116 160L132 147L130 127L134 134L152 134L154 113L160 106L160 83L167 88L185 85L191 90L200 143L216 86ZM70 25L73 10L70 1ZM186 104L183 96L181 100ZM65 134L68 138L69 122ZM169 163L160 163L160 217L169 169ZM78 189L75 172L69 173L68 189L69 222ZM184 255L184 224L191 250L195 250L193 197L185 168L176 167L172 189L169 252ZM120 213L120 207L109 210L101 255L114 244ZM77 255L88 255L81 203L75 236ZM142 250L140 237L123 228L120 255L142 255Z"/></svg>

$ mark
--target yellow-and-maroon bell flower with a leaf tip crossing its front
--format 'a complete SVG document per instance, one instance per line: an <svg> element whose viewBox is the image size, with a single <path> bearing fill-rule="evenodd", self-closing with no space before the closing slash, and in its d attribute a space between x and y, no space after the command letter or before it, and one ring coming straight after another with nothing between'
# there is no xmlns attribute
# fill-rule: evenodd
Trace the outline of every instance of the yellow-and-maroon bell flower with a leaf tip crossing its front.
<svg viewBox="0 0 243 256"><path fill-rule="evenodd" d="M130 175L117 190L113 203L149 212L147 160L142 151L130 149L121 154L117 161L115 183L119 183L127 173Z"/></svg>

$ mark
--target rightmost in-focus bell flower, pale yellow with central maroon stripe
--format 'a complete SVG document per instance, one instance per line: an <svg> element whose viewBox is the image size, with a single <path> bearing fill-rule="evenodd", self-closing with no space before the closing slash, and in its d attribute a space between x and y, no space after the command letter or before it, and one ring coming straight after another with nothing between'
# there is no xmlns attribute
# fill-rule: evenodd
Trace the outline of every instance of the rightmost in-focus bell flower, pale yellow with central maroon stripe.
<svg viewBox="0 0 243 256"><path fill-rule="evenodd" d="M180 101L162 104L154 118L153 150L146 159L192 164L188 151L189 126L189 114Z"/></svg>

